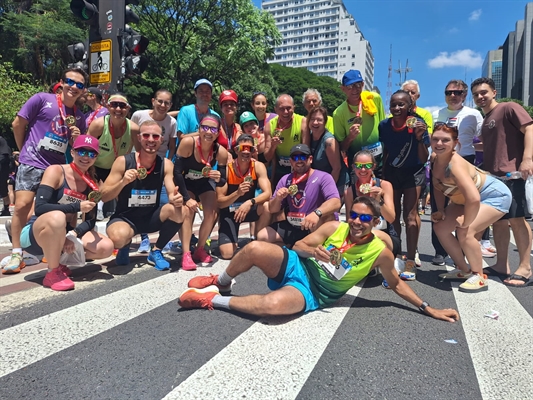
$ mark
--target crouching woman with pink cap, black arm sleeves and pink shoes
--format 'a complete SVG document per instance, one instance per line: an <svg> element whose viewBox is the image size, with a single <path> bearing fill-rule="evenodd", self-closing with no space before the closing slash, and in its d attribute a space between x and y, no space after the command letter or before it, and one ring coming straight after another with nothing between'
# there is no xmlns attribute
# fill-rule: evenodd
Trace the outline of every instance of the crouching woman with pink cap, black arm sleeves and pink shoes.
<svg viewBox="0 0 533 400"><path fill-rule="evenodd" d="M81 239L87 258L106 258L113 252L113 242L94 230L98 199L88 199L94 196L89 196L91 192L98 191L91 168L98 155L98 139L78 136L71 154L71 164L46 168L37 189L35 216L20 235L24 250L44 254L48 260L43 286L58 291L74 289L74 282L69 278L70 269L59 264L62 252L72 253L75 249L74 243L66 238L68 232ZM85 214L85 221L72 227L67 221L75 221L78 212Z"/></svg>

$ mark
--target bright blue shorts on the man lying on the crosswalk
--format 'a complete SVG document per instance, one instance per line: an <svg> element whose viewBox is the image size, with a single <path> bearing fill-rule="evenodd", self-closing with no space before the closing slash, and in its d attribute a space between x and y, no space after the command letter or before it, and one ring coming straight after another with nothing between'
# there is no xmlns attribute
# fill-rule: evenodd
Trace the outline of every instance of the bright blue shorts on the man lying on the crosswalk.
<svg viewBox="0 0 533 400"><path fill-rule="evenodd" d="M295 251L288 250L286 247L283 248L283 253L280 274L274 279L268 278L268 288L270 290L277 290L284 286L292 286L298 289L305 299L304 312L318 309L318 300L311 291L309 277L307 276L307 272L305 272L305 268L298 254Z"/></svg>

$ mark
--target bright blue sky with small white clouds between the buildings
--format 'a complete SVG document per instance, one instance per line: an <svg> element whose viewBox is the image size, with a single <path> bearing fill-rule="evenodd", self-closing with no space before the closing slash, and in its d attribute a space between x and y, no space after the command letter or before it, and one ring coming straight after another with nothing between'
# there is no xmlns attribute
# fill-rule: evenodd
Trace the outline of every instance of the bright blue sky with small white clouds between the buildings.
<svg viewBox="0 0 533 400"><path fill-rule="evenodd" d="M253 0L261 7L261 0ZM392 68L406 60L407 79L420 84L418 105L442 108L444 87L450 79L467 84L481 76L489 50L503 45L517 20L524 18L522 0L344 0L370 42L375 59L374 84L387 93L390 45ZM392 92L399 89L392 74ZM468 98L467 101L470 101ZM385 103L385 99L384 99Z"/></svg>

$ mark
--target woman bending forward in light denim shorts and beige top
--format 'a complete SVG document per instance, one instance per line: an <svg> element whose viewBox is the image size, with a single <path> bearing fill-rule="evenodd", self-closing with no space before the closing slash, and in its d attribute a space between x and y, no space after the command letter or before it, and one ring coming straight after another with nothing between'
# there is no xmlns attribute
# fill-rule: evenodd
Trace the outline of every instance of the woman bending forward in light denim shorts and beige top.
<svg viewBox="0 0 533 400"><path fill-rule="evenodd" d="M431 172L437 210L431 214L439 241L458 269L441 274L445 279L464 279L462 292L487 290L481 248L475 235L498 221L511 205L511 192L502 182L455 152L458 131L435 124L431 136ZM444 208L444 197L450 199ZM456 231L456 236L452 232ZM464 255L463 255L464 252ZM470 267L465 262L468 260Z"/></svg>

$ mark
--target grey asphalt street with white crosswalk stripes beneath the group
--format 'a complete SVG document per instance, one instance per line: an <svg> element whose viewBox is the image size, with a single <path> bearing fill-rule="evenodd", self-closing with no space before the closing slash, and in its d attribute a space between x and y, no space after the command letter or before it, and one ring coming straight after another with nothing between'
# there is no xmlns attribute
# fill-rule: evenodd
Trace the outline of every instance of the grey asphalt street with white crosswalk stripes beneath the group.
<svg viewBox="0 0 533 400"><path fill-rule="evenodd" d="M419 249L423 266L409 285L432 306L457 308L461 321L422 315L379 278L297 317L180 310L187 281L220 273L222 260L185 272L178 256L169 273L132 252L127 267L111 259L74 269L76 289L64 293L41 286L44 264L2 275L0 398L533 399L533 287L491 278L488 291L465 294L439 282L429 216ZM514 245L509 256L514 270ZM254 269L233 294L267 291ZM491 310L499 319L485 317Z"/></svg>

